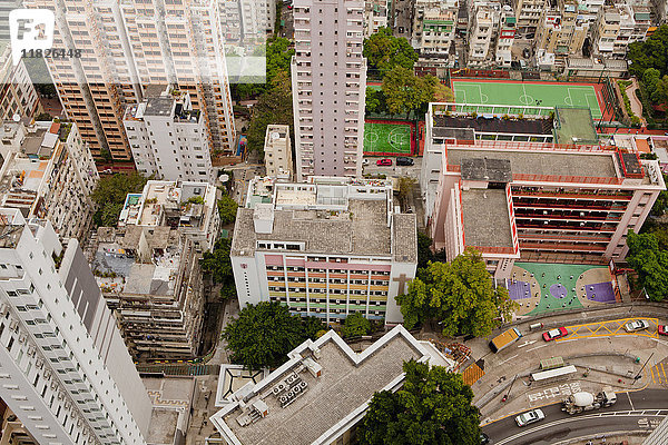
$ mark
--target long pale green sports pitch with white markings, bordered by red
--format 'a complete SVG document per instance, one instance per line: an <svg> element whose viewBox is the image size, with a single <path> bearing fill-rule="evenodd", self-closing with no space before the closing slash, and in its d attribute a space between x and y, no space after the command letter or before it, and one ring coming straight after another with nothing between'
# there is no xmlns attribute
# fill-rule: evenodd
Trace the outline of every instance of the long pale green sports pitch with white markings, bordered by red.
<svg viewBox="0 0 668 445"><path fill-rule="evenodd" d="M470 82L453 80L458 103L508 106L587 107L593 119L601 118L600 105L592 86ZM541 101L540 103L537 103Z"/></svg>

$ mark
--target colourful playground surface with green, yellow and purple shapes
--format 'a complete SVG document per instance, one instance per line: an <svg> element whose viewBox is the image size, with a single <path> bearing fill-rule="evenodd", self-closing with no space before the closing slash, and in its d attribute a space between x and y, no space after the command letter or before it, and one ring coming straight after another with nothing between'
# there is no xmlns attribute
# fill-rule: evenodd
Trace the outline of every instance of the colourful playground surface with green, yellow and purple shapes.
<svg viewBox="0 0 668 445"><path fill-rule="evenodd" d="M592 307L616 303L607 266L515 263L508 280L517 315Z"/></svg>

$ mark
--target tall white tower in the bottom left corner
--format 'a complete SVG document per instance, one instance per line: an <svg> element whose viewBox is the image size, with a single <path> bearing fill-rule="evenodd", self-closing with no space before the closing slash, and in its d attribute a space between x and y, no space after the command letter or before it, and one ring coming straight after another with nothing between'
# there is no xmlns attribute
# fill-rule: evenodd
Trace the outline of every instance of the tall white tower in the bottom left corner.
<svg viewBox="0 0 668 445"><path fill-rule="evenodd" d="M144 445L151 405L77 240L0 208L0 398L40 444Z"/></svg>

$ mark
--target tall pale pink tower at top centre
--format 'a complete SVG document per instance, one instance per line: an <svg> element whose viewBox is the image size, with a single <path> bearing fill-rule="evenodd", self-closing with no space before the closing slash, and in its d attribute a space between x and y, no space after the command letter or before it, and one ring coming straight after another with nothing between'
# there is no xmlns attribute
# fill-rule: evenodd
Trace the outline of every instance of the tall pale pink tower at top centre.
<svg viewBox="0 0 668 445"><path fill-rule="evenodd" d="M364 1L295 0L292 90L297 180L362 174Z"/></svg>

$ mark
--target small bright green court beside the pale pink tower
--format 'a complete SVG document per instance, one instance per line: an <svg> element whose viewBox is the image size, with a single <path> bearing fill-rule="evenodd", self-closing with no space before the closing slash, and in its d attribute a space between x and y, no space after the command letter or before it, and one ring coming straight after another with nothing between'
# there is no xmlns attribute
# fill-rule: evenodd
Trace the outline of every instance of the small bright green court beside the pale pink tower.
<svg viewBox="0 0 668 445"><path fill-rule="evenodd" d="M414 125L404 121L370 120L364 122L364 154L394 156L414 154Z"/></svg>

